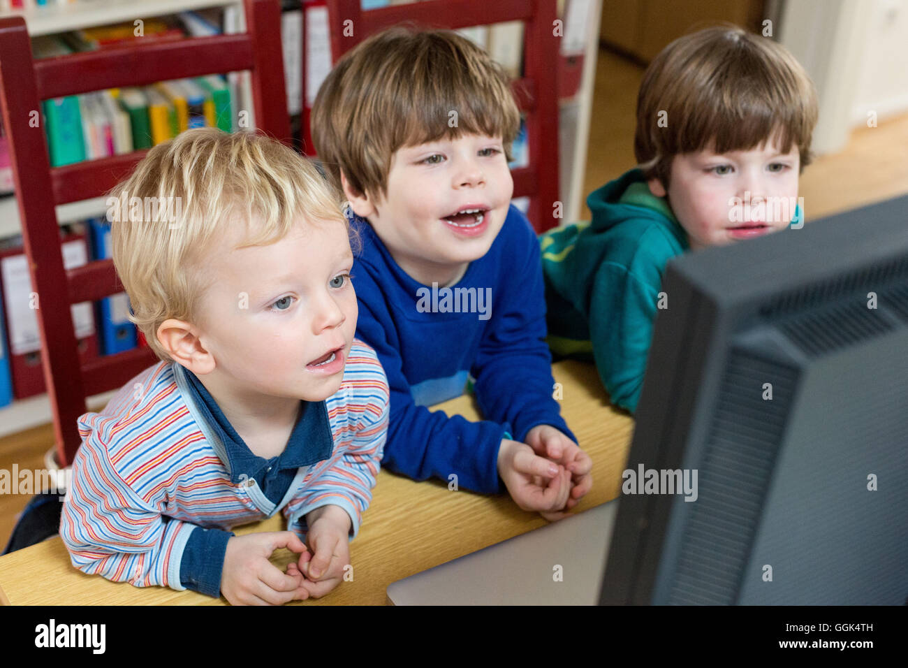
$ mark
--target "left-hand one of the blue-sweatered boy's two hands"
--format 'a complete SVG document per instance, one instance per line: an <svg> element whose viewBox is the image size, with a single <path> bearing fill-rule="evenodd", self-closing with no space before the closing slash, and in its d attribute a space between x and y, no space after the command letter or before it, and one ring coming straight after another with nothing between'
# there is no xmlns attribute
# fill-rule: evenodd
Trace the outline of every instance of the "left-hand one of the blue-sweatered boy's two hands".
<svg viewBox="0 0 908 668"><path fill-rule="evenodd" d="M564 466L533 454L528 444L501 440L498 448L498 475L520 508L538 511L549 522L567 516L561 513L568 502L570 472Z"/></svg>

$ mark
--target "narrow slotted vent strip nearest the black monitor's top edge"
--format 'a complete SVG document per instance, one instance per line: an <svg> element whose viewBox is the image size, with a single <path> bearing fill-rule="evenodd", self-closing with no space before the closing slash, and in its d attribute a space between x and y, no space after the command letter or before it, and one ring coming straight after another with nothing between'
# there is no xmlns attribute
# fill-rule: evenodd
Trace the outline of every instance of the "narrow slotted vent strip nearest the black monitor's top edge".
<svg viewBox="0 0 908 668"><path fill-rule="evenodd" d="M908 281L908 257L900 257L885 264L878 264L862 271L842 274L832 280L824 280L806 285L796 290L780 294L773 301L760 308L760 314L778 316L803 311L816 304L845 294L863 291L867 294L873 285L889 284L895 281Z"/></svg>

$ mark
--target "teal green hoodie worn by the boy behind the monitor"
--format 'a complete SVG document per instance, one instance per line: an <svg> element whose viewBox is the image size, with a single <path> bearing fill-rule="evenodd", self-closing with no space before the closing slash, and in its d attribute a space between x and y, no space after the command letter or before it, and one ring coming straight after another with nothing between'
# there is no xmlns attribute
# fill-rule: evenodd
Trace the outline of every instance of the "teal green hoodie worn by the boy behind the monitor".
<svg viewBox="0 0 908 668"><path fill-rule="evenodd" d="M590 223L542 234L548 342L593 360L612 404L637 409L662 273L687 234L633 169L587 197Z"/></svg>

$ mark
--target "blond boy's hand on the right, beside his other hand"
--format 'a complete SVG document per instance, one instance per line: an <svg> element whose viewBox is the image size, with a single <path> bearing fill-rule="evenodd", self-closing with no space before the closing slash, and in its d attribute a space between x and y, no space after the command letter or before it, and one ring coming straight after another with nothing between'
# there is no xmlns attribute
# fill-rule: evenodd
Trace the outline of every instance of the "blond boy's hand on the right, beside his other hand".
<svg viewBox="0 0 908 668"><path fill-rule="evenodd" d="M301 573L301 586L312 598L321 598L341 583L350 563L350 515L337 505L324 505L306 515L306 540L314 554L301 553L287 574Z"/></svg>

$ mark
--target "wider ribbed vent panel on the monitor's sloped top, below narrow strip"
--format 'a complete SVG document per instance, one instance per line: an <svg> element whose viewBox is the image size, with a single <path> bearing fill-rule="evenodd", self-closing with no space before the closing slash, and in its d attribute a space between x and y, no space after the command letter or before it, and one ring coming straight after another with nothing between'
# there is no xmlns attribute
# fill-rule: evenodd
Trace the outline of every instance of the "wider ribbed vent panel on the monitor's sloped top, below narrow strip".
<svg viewBox="0 0 908 668"><path fill-rule="evenodd" d="M862 300L814 310L779 324L779 329L804 353L815 356L885 334L893 324L879 308L868 308Z"/></svg>

